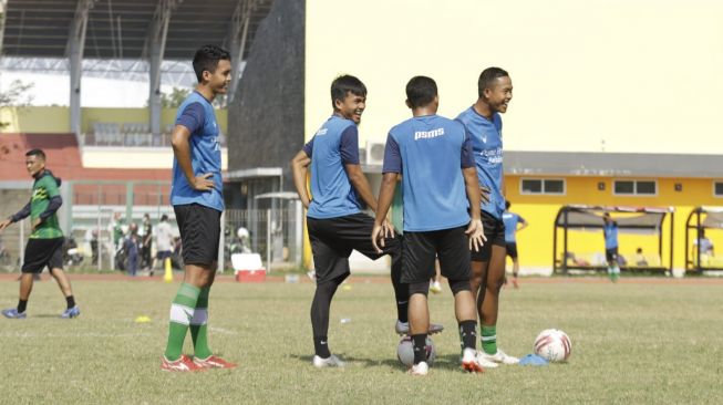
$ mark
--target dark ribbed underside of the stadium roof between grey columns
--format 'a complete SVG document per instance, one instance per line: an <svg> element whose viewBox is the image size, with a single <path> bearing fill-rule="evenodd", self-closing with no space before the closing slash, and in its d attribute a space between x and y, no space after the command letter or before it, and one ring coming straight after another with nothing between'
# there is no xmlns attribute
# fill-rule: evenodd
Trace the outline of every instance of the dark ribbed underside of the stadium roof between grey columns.
<svg viewBox="0 0 723 405"><path fill-rule="evenodd" d="M20 58L64 58L70 27L81 0L9 0L2 53ZM146 59L149 27L171 4L164 60L188 60L207 43L228 46L237 9L248 7L246 59L272 0L87 0L84 58Z"/></svg>

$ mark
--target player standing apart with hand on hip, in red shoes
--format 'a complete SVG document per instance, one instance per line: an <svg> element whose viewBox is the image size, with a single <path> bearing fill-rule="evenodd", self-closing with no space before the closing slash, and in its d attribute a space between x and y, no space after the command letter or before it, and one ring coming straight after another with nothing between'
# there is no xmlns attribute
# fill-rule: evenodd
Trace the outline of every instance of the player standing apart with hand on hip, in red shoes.
<svg viewBox="0 0 723 405"><path fill-rule="evenodd" d="M199 371L234 368L208 349L208 293L216 277L221 194L221 148L211 102L226 94L231 80L230 55L216 45L196 51L194 71L198 86L178 107L173 129L173 186L171 204L180 230L184 282L171 305L168 344L161 368ZM186 332L194 342L193 361L182 354Z"/></svg>

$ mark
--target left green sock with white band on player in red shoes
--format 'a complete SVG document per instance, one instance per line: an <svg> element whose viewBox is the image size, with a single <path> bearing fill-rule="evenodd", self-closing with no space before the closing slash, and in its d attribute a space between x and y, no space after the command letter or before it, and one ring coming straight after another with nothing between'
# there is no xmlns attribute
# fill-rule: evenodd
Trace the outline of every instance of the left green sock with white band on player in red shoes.
<svg viewBox="0 0 723 405"><path fill-rule="evenodd" d="M180 357L186 332L188 331L190 320L194 318L199 294L199 288L183 283L178 288L176 298L174 298L173 303L171 304L168 343L165 352L165 356L169 361L175 361Z"/></svg>

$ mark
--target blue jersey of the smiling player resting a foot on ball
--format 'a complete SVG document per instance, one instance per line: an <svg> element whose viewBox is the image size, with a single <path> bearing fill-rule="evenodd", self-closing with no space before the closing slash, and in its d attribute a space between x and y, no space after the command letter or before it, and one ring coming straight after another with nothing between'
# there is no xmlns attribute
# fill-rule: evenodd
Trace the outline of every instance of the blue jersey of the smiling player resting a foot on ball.
<svg viewBox="0 0 723 405"><path fill-rule="evenodd" d="M311 204L307 216L337 218L361 211L344 165L359 165L357 124L332 115L303 146L311 158Z"/></svg>

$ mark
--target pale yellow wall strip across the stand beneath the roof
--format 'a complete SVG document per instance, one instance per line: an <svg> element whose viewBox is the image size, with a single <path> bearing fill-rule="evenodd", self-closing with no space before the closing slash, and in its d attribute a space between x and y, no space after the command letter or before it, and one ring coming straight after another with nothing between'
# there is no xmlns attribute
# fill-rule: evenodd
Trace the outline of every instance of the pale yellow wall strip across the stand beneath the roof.
<svg viewBox="0 0 723 405"><path fill-rule="evenodd" d="M228 134L227 110L215 110L221 133ZM161 129L175 123L176 108L161 112ZM68 133L70 132L69 107L3 107L0 122L9 123L3 133ZM147 123L148 108L82 108L81 128L84 133L93 131L93 123Z"/></svg>

